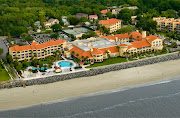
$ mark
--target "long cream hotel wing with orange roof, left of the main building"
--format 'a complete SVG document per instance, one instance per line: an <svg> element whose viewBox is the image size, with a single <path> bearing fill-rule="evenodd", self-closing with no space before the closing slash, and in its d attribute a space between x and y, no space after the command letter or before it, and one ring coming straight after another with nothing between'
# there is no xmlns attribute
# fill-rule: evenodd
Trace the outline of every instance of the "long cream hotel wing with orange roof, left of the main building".
<svg viewBox="0 0 180 118"><path fill-rule="evenodd" d="M45 58L47 56L53 55L57 50L63 52L66 46L65 40L50 40L39 44L38 42L32 42L31 45L25 46L13 46L9 48L9 54L12 56L13 60L18 61L30 60L32 57L36 59Z"/></svg>

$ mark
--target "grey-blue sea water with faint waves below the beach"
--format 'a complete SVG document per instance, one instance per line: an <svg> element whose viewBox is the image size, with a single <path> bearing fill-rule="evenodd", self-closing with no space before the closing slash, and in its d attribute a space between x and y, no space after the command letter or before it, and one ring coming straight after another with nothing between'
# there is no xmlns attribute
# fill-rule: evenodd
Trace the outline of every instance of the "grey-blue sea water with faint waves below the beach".
<svg viewBox="0 0 180 118"><path fill-rule="evenodd" d="M1 111L0 117L172 118L180 117L180 77L51 104Z"/></svg>

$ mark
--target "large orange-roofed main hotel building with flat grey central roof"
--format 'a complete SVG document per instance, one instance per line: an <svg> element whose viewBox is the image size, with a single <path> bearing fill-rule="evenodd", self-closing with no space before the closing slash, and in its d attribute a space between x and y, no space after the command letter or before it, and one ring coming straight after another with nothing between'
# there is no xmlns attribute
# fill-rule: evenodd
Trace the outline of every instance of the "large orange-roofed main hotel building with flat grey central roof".
<svg viewBox="0 0 180 118"><path fill-rule="evenodd" d="M132 42L130 42L131 39ZM88 58L91 62L102 62L108 57L125 56L125 52L134 55L162 49L162 39L154 35L146 36L146 31L143 31L142 35L135 31L130 34L117 34L74 41L66 56L70 57L74 53L73 55L81 60Z"/></svg>

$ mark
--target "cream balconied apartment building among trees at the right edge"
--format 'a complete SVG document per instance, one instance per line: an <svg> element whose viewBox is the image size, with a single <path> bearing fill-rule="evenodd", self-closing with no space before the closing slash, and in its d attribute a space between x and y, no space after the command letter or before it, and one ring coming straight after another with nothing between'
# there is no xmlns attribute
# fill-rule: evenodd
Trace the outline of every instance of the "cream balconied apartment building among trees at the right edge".
<svg viewBox="0 0 180 118"><path fill-rule="evenodd" d="M180 19L154 17L153 20L157 22L157 30L168 30L168 32L176 31L180 34Z"/></svg>

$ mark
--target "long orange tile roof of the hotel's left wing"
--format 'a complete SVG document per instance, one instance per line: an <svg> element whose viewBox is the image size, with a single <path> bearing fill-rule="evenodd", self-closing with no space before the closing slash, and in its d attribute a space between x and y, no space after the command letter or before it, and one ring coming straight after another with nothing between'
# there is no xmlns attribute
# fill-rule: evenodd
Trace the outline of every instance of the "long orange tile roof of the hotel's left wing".
<svg viewBox="0 0 180 118"><path fill-rule="evenodd" d="M24 46L13 46L13 47L10 47L10 49L12 51L25 51L25 50L36 50L36 49L43 49L43 48L46 48L48 46L56 46L56 45L60 45L62 43L66 42L65 40L61 40L61 39L58 39L58 40L50 40L49 42L45 42L45 43L42 43L42 44L39 44L38 42L33 42L31 43L31 45L24 45Z"/></svg>

